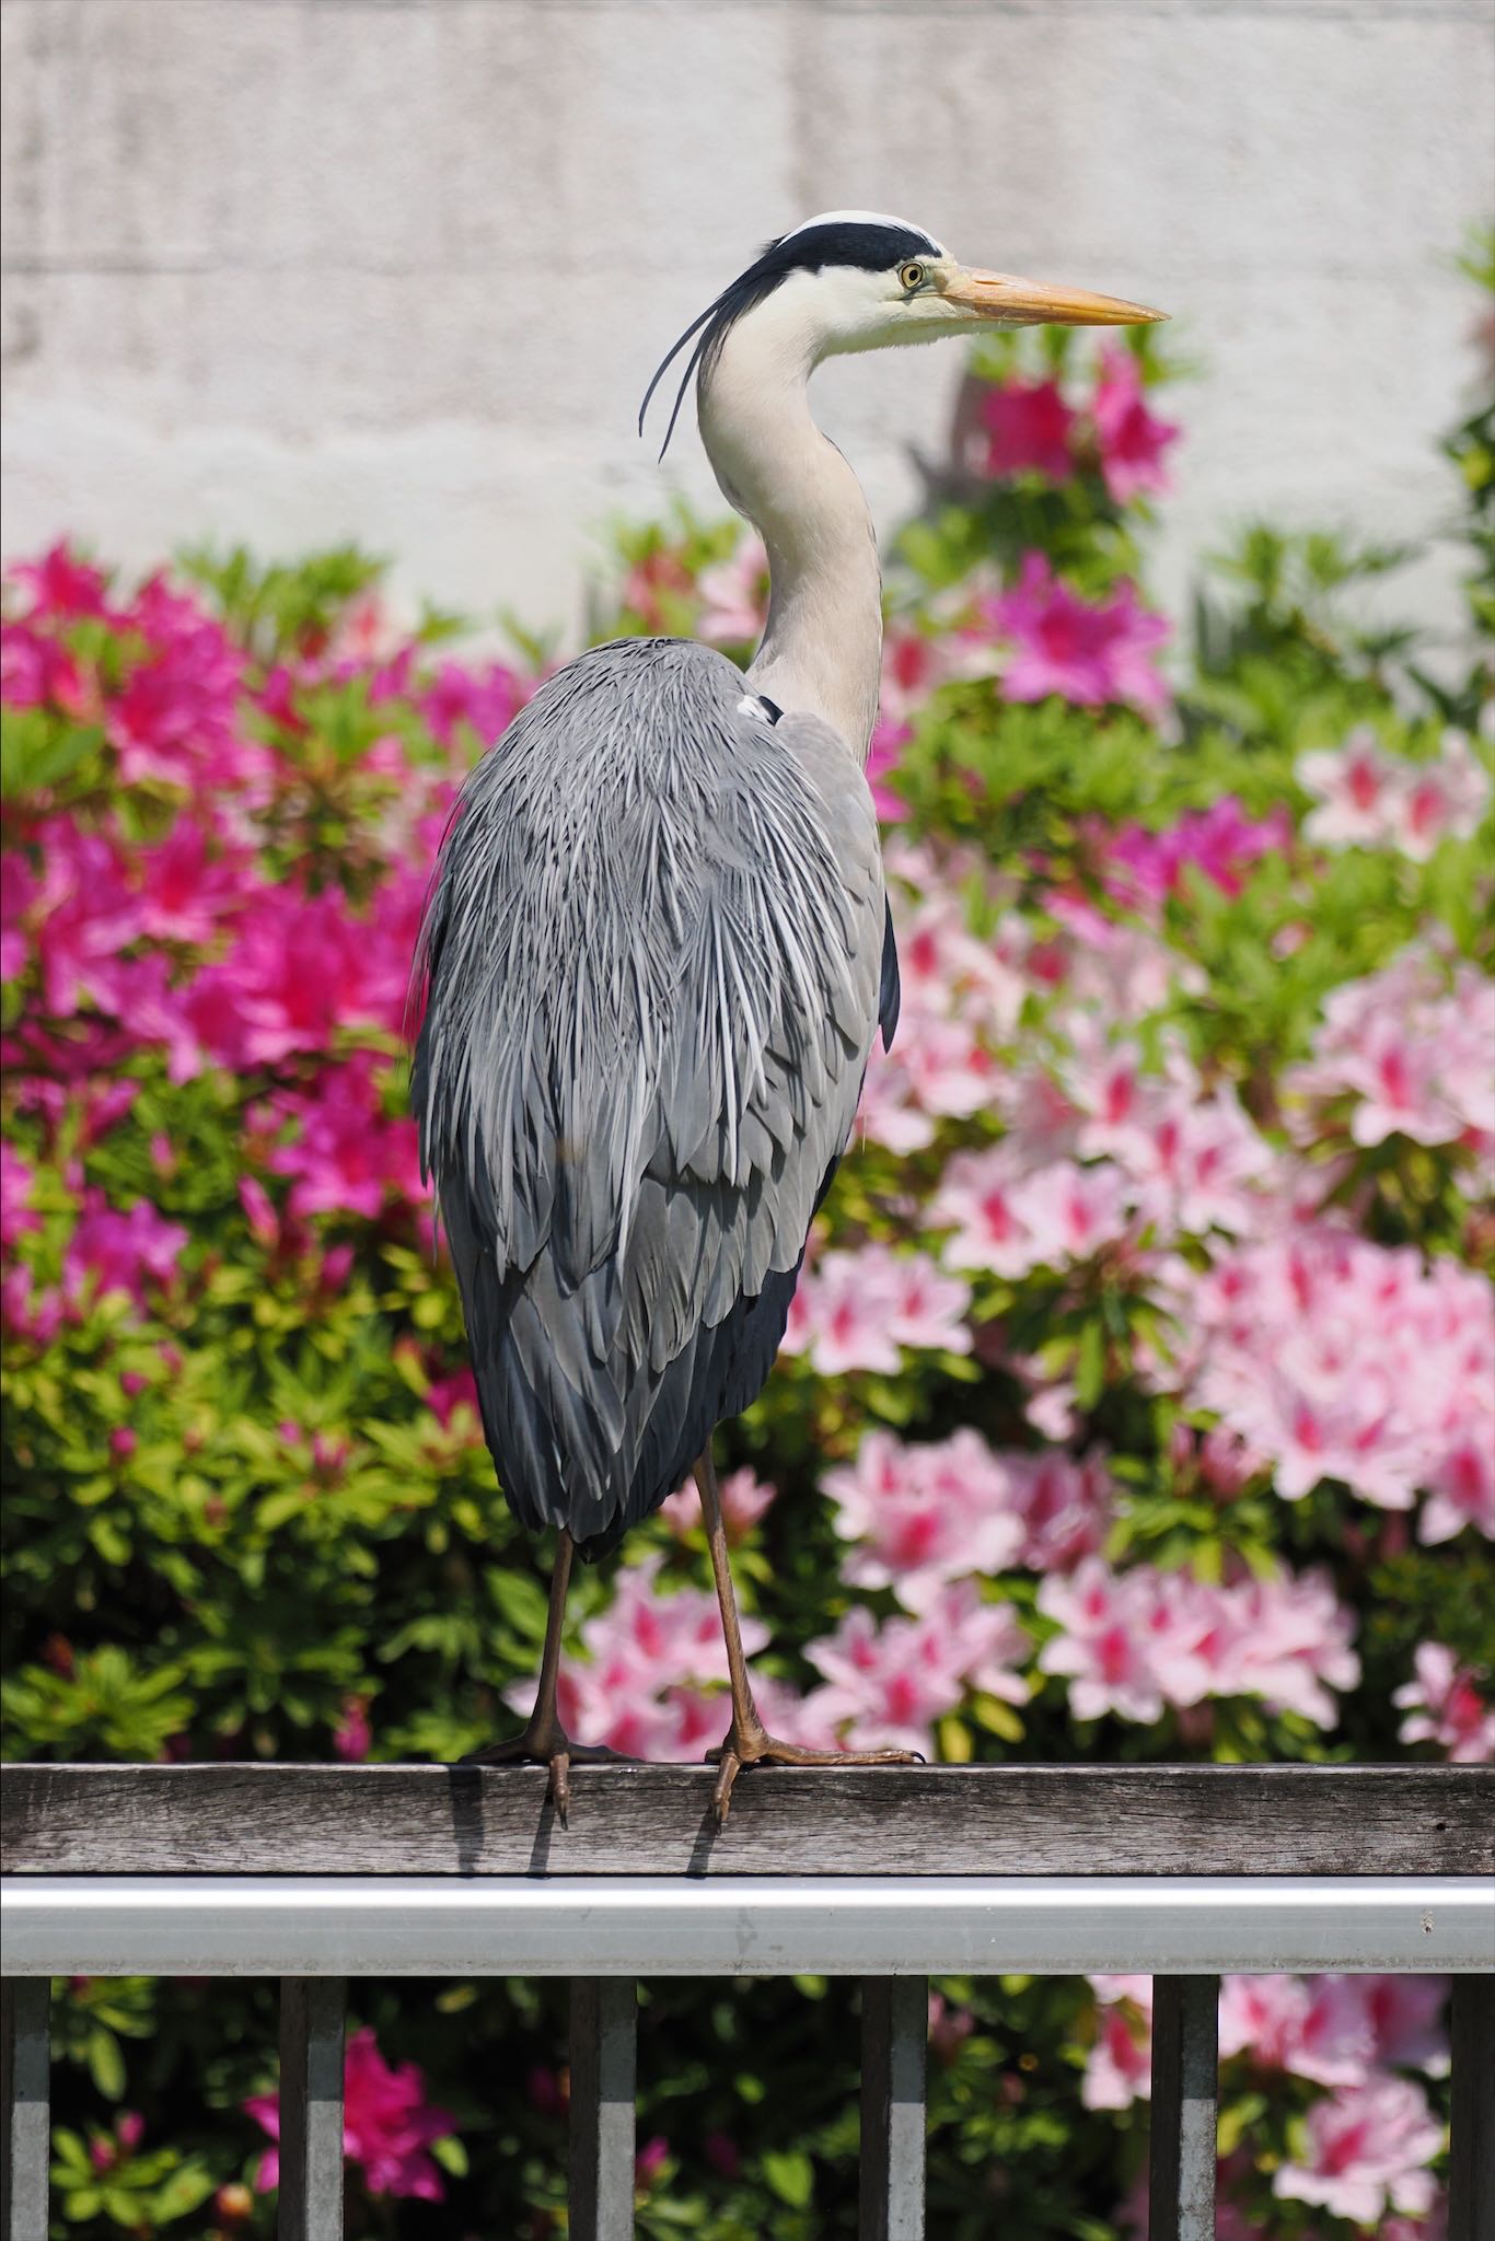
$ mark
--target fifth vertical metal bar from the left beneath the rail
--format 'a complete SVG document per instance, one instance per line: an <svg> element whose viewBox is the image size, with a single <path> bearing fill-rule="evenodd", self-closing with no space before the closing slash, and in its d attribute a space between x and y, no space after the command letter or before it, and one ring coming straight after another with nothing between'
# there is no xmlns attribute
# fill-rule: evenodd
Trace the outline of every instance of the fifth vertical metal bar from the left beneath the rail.
<svg viewBox="0 0 1495 2241"><path fill-rule="evenodd" d="M1219 1977L1152 1979L1150 2241L1215 2241Z"/></svg>

